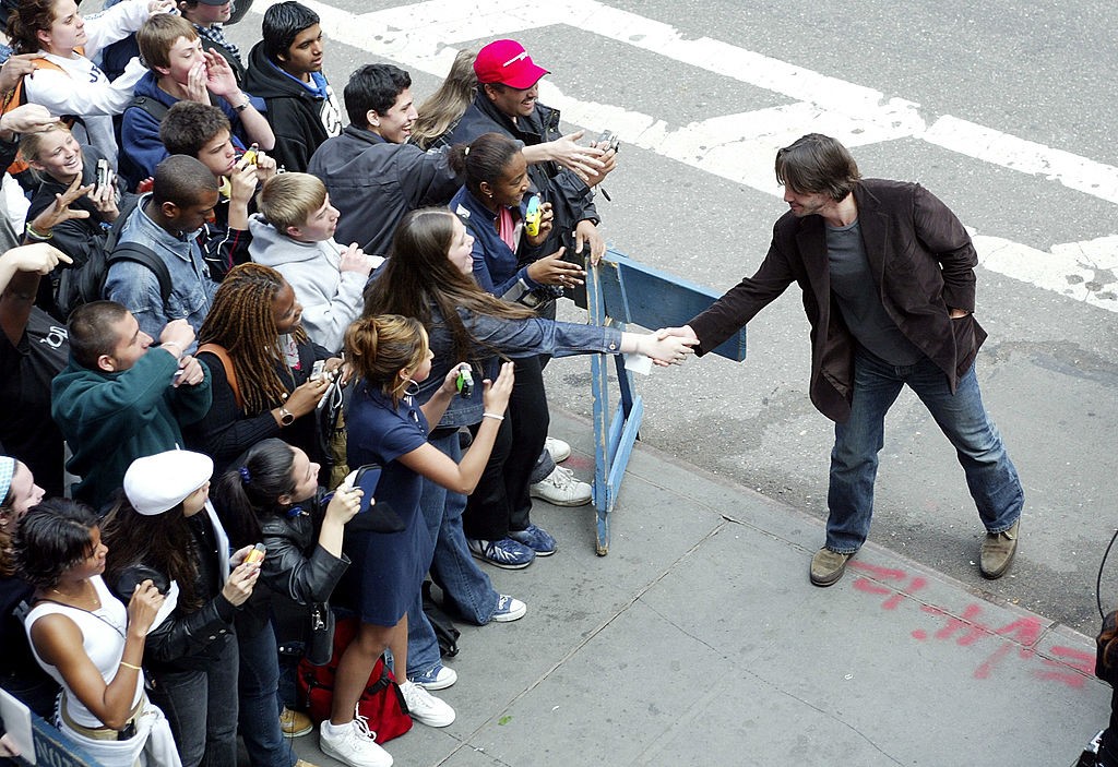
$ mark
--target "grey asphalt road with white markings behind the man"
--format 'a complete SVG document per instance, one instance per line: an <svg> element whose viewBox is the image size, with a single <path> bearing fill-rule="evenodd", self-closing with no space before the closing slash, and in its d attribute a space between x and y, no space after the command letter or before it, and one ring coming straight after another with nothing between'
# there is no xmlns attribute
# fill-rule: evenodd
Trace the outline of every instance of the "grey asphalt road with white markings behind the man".
<svg viewBox="0 0 1118 767"><path fill-rule="evenodd" d="M520 39L552 71L559 90L544 92L544 102L562 104L594 133L620 133L623 164L607 183L613 202L599 203L607 239L692 281L721 290L751 274L785 210L766 175L773 152L813 131L849 141L864 175L919 181L976 234L1013 243L996 269L978 269L976 315L989 333L978 359L986 403L1026 490L1017 560L1002 581L978 575L982 528L961 471L910 393L887 422L871 537L976 593L1095 631L1095 576L1115 529L1118 477L1118 257L1106 239L1118 229L1118 198L1096 183L1118 165L1118 7L789 0L712 1L697 12L692 3L579 0L547 9L420 3L391 18L375 16L398 7L390 2L315 7L339 97L350 71L379 60L411 70L414 92L427 95L438 84L428 74L439 71L433 39L452 49L443 56ZM262 8L257 0L227 30L246 54ZM463 18L433 26L444 11ZM665 30L667 42L652 40ZM711 60L698 61L704 54ZM740 66L720 68L739 55ZM863 109L856 99L866 93ZM880 116L856 122L894 99L927 130ZM774 114L776 127L759 127ZM987 133L996 136L988 145L976 141ZM693 152L680 148L689 134L701 140ZM710 141L724 141L724 153ZM1064 243L1087 245L1069 258ZM1035 269L1025 268L1031 258ZM1061 271L1064 263L1076 268ZM639 380L642 437L822 518L832 426L807 397L807 324L796 293L750 324L745 363L704 358ZM562 316L580 318L570 308ZM589 414L586 359L556 361L548 376L555 406ZM622 514L641 514L624 501L623 492ZM1118 557L1102 598L1118 602Z"/></svg>

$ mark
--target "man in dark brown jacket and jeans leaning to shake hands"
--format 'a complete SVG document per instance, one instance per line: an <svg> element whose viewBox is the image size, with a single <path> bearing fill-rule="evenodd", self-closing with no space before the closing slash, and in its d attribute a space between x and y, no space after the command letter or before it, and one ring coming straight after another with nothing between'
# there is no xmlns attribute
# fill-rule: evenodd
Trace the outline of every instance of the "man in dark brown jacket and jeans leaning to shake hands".
<svg viewBox="0 0 1118 767"><path fill-rule="evenodd" d="M983 408L974 362L986 339L973 316L978 263L963 224L918 184L862 180L834 138L808 134L777 153L790 210L765 261L682 328L702 355L798 282L812 325L812 402L835 422L826 544L817 586L839 581L873 514L884 416L908 384L956 449L986 528L980 571L1005 574L1024 492Z"/></svg>

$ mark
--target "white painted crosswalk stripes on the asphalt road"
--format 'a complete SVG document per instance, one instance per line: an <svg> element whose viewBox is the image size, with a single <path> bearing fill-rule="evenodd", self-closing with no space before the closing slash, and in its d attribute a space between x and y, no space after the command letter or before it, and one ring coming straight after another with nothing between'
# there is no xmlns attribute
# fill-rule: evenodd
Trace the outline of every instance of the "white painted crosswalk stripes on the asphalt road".
<svg viewBox="0 0 1118 767"><path fill-rule="evenodd" d="M566 25L769 90L781 100L790 98L792 104L672 126L655 115L569 96L550 79L541 83L541 100L562 109L565 119L575 125L591 130L608 125L627 144L766 193L780 194L773 178L776 150L816 131L852 147L915 138L1118 203L1118 167L1112 165L951 115L929 123L916 102L721 40L689 39L670 25L598 0L531 4L429 0L360 15L315 0L304 2L320 15L329 38L438 77L449 69L455 44ZM269 4L256 3L253 10L263 13ZM977 232L975 246L988 269L1118 311L1118 237L1084 234L1090 239L1043 251L996 232Z"/></svg>

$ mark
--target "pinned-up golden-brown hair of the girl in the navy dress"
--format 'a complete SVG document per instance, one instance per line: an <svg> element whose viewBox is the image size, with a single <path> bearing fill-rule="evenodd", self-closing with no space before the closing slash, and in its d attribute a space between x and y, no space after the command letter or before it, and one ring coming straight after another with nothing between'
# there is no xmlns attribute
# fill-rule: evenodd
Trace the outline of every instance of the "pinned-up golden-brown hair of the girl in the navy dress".
<svg viewBox="0 0 1118 767"><path fill-rule="evenodd" d="M345 330L345 358L370 386L378 386L398 404L409 378L402 370L415 370L427 356L427 332L423 323L397 314L362 317Z"/></svg>

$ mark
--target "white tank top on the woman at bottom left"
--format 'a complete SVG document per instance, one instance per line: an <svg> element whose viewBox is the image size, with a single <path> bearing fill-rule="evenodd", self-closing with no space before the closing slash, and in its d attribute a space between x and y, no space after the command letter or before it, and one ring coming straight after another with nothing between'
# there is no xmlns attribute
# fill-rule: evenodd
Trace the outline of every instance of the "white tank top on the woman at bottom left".
<svg viewBox="0 0 1118 767"><path fill-rule="evenodd" d="M23 626L27 630L28 642L31 644L31 652L35 652L35 660L65 691L66 711L69 718L83 727L100 728L105 726L104 722L82 704L82 701L70 691L61 674L58 673L58 669L39 658L39 653L35 650L35 643L31 642L31 626L37 620L44 615L65 615L77 624L78 631L82 632L82 646L85 654L97 667L105 684L113 681L121 668L121 656L124 654L124 636L127 631L129 613L121 601L108 591L100 575L94 575L91 581L97 589L101 607L89 612L56 602L39 602L28 612ZM143 674L136 674L136 690L132 696L133 707L140 702L141 694L143 694Z"/></svg>

